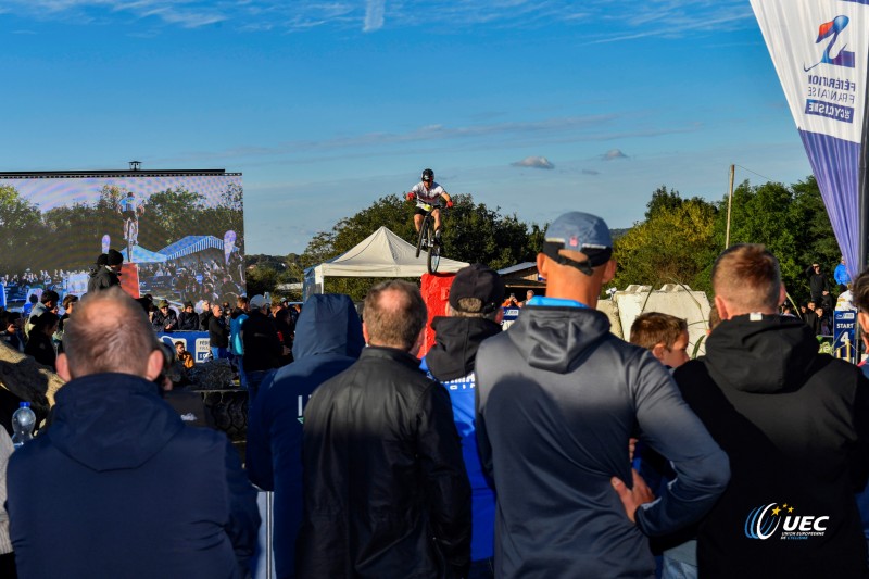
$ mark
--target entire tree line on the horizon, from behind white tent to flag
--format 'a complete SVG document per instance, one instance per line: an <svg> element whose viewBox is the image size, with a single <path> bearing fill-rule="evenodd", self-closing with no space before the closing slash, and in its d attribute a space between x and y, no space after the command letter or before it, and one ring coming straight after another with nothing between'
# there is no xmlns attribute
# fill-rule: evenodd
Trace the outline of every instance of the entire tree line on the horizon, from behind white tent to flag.
<svg viewBox="0 0 869 579"><path fill-rule="evenodd" d="M470 194L456 194L445 217L444 255L469 263L480 262L500 269L534 261L543 246L547 224L526 223L500 207L475 203ZM683 197L662 186L652 192L644 219L614 231L618 270L609 287L629 285L659 288L681 284L711 297L711 266L725 249L727 197L707 201ZM581 210L581 207L577 207ZM275 291L278 284L301 281L305 267L336 257L368 237L381 225L415 243L413 205L396 194L387 194L351 217L320 231L301 255L290 254L286 268L264 265L249 269L248 284L257 292ZM779 259L782 278L794 300L805 300L806 266L819 262L830 277L840 250L814 177L790 187L780 182L753 186L743 181L733 192L730 243L764 243ZM259 260L262 261L262 260ZM348 293L361 300L378 280L339 278L327 280L327 291ZM606 288L605 288L606 289ZM281 292L278 292L281 294ZM301 299L298 292L282 292Z"/></svg>

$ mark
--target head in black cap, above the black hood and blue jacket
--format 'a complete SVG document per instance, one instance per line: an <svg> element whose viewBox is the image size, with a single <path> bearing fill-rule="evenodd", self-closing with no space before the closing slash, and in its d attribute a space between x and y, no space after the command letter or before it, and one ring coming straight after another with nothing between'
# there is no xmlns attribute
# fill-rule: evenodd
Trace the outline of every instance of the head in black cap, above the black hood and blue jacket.
<svg viewBox="0 0 869 579"><path fill-rule="evenodd" d="M481 263L463 267L450 286L450 315L453 317L481 317L496 320L504 282L498 272Z"/></svg>

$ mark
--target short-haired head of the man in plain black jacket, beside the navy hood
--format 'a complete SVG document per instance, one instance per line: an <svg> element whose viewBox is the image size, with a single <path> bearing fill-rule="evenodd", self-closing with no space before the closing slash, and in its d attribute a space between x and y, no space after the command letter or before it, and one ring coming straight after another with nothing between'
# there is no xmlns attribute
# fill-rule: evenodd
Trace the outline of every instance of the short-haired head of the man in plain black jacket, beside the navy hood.
<svg viewBox="0 0 869 579"><path fill-rule="evenodd" d="M410 352L426 326L426 302L419 288L401 279L383 281L365 297L368 343Z"/></svg>

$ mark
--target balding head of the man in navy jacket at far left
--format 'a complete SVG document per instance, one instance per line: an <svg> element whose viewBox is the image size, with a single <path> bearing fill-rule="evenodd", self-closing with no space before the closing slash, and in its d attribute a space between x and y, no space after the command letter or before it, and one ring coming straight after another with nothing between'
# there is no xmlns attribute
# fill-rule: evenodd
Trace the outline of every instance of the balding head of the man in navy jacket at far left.
<svg viewBox="0 0 869 579"><path fill-rule="evenodd" d="M148 316L119 287L88 292L64 329L72 378L108 372L144 376L158 348Z"/></svg>

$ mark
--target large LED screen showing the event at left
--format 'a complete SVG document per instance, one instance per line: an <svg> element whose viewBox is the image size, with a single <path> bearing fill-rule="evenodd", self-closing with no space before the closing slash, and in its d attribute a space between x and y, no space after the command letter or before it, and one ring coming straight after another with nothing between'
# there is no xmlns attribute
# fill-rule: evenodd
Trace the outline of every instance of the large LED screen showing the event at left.
<svg viewBox="0 0 869 579"><path fill-rule="evenodd" d="M235 306L244 293L241 175L136 173L0 174L8 309L45 289L80 295L109 249L124 255L122 281L136 297Z"/></svg>

